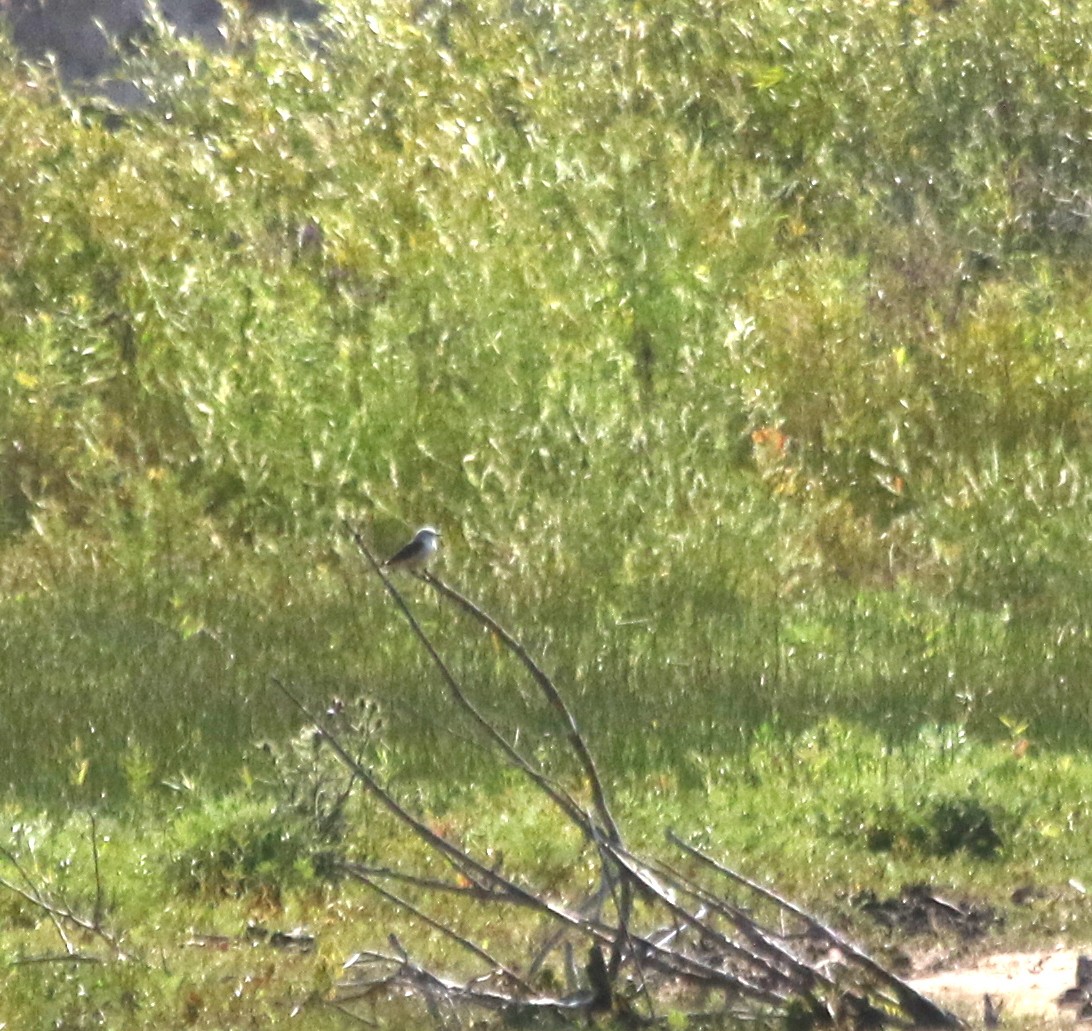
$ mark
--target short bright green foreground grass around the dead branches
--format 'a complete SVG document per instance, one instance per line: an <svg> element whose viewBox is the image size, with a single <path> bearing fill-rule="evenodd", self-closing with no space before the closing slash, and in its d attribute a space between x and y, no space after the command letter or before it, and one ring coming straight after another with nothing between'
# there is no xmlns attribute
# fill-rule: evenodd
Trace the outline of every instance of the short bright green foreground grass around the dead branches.
<svg viewBox="0 0 1092 1031"><path fill-rule="evenodd" d="M772 882L888 958L943 946L966 956L1029 940L1087 940L1092 912L1072 887L1090 848L1087 756L1045 754L1016 743L984 746L960 726L936 727L892 748L877 734L827 721L795 743L759 734L746 755L707 761L700 782L670 773L613 785L616 816L632 846L673 862L663 830L673 827L729 865ZM322 763L293 766L322 773ZM252 757L244 792L152 785L139 807L100 819L97 836L105 923L122 932L131 959L102 967L23 964L58 951L45 915L0 896L5 923L0 1020L34 1019L118 1028L235 1028L285 1019L304 1005L309 1026L340 1027L320 1000L345 957L381 945L396 928L416 956L460 968L449 947L405 914L351 881L331 882L308 858L316 836L293 799L273 784L268 760ZM401 793L417 793L412 784ZM496 775L484 805L480 789L461 785L439 807L418 799L431 826L479 856L503 856L506 870L551 891L578 894L594 885L594 863L579 836L541 795L514 775ZM987 827L966 833L974 811ZM150 818L152 816L155 818ZM361 799L351 803L339 846L365 861L435 868L420 849ZM90 912L96 896L86 814L52 822L8 810L5 837L24 868L55 899ZM140 818L134 819L134 816ZM952 833L958 826L962 833ZM442 873L435 869L436 873ZM863 900L898 897L926 880L939 893L990 906L986 938L942 931L910 935L871 920ZM1018 889L1028 901L1011 901ZM451 899L426 903L464 933L515 955L527 948L532 921L502 920L490 908ZM307 955L283 951L248 933L300 925L317 937ZM248 937L249 934L249 937ZM218 938L216 936L219 936ZM76 937L84 951L103 948ZM394 1026L414 1026L396 1006L380 1010ZM419 1019L419 1018L418 1018Z"/></svg>

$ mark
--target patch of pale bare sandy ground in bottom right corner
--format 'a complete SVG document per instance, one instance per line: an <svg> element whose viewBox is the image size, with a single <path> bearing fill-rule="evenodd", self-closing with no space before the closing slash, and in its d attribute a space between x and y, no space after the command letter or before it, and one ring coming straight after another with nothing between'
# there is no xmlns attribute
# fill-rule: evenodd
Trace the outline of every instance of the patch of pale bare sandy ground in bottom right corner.
<svg viewBox="0 0 1092 1031"><path fill-rule="evenodd" d="M1092 955L1092 946L996 953L911 983L972 1027L984 1026L983 996L988 995L1001 1007L1002 1028L1069 1028L1080 1006L1059 1007L1058 998L1077 984L1077 958L1082 953Z"/></svg>

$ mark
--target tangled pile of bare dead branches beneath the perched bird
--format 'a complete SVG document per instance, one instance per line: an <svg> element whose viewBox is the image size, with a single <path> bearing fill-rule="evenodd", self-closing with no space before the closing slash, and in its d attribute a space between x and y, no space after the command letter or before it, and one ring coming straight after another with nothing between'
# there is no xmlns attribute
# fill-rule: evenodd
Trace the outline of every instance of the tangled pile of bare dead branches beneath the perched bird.
<svg viewBox="0 0 1092 1031"><path fill-rule="evenodd" d="M821 921L674 832L666 832L673 862L631 851L571 711L525 649L468 599L437 577L422 574L523 664L565 726L582 769L587 804L483 715L363 538L349 532L435 663L452 704L477 727L483 743L526 775L586 841L597 857L597 884L571 902L503 872L502 864L483 862L406 808L354 758L337 732L319 721L324 740L371 798L440 857L452 876L418 876L349 861L342 861L342 869L455 943L476 968L470 977L446 975L414 960L391 935L388 950L361 951L346 962L347 975L340 985L343 1006L373 1002L384 993L412 996L424 1002L438 1024L471 1007L509 1021L535 1015L577 1021L610 1014L627 1023L653 1024L666 1019L669 1009L691 1020L780 1019L794 1028L960 1026L958 1018ZM304 709L287 688L285 692ZM400 893L405 887L412 887L413 899ZM500 958L429 915L418 900L431 892L494 906L498 917L512 910L534 913L547 932L530 955ZM545 975L551 956L562 959L563 984L556 975Z"/></svg>

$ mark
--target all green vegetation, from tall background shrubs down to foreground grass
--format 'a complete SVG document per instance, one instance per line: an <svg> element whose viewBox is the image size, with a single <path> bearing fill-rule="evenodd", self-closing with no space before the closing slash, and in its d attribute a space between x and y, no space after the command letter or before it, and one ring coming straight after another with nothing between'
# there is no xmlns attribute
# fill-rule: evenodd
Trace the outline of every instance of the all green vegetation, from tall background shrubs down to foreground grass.
<svg viewBox="0 0 1092 1031"><path fill-rule="evenodd" d="M167 973L14 967L0 1022L323 994L375 903L263 834L257 744L298 730L272 677L373 698L395 784L579 877L344 518L380 550L441 526L638 837L708 834L866 936L844 900L923 879L1012 940L1087 935L1088 20L333 3L317 46L233 11L222 52L131 48L123 114L5 62L0 783L83 897L83 814L112 821L111 915ZM567 771L494 644L410 593ZM10 957L56 946L4 904ZM322 922L320 956L180 948L256 913Z"/></svg>

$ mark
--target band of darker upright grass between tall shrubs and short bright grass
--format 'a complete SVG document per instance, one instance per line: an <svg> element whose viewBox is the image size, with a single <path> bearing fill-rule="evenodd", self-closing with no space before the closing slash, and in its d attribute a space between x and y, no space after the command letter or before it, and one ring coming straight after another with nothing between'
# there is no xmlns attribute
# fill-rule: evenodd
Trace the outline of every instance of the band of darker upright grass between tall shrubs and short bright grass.
<svg viewBox="0 0 1092 1031"><path fill-rule="evenodd" d="M144 779L187 773L230 787L246 751L293 725L278 678L316 706L379 700L407 773L472 778L473 732L452 727L441 682L363 559L346 552L324 571L299 568L280 588L277 570L251 567L236 579L235 567L212 588L170 577L134 586L97 573L9 600L0 668L13 714L34 733L11 728L0 775L26 801L60 804L79 774L81 792L122 803L135 756L149 767ZM551 714L488 638L407 589L490 715L533 738L556 735ZM568 617L502 597L490 606L527 627L527 644L619 773L689 775L695 757L746 752L760 728L793 740L828 716L891 746L915 740L923 725L956 723L983 742L1006 739L1019 723L1049 749L1084 744L1090 647L1079 614L1052 625L1041 612L988 612L899 589L829 592L775 611L732 595L720 611L698 584L695 595L678 596L674 584L614 605L577 595Z"/></svg>

